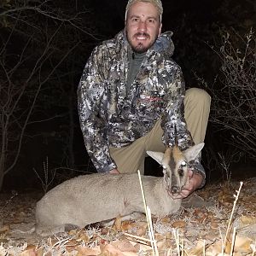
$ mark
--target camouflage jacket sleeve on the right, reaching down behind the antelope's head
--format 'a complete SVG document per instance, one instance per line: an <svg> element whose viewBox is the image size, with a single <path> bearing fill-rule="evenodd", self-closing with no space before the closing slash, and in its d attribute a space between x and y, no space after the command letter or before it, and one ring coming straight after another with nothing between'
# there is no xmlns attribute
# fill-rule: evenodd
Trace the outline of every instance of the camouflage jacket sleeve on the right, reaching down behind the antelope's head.
<svg viewBox="0 0 256 256"><path fill-rule="evenodd" d="M173 67L172 79L168 82L166 93L166 113L162 121L162 128L164 130L164 143L166 145L174 145L175 137L177 136L178 145L183 150L190 148L195 143L187 129L184 118L184 96L185 83L183 73L180 67ZM176 126L176 129L175 129ZM176 132L176 131L177 132ZM196 157L194 161L189 163L191 170L194 173L200 173L204 177L201 187L205 184L206 172L201 165L201 154Z"/></svg>

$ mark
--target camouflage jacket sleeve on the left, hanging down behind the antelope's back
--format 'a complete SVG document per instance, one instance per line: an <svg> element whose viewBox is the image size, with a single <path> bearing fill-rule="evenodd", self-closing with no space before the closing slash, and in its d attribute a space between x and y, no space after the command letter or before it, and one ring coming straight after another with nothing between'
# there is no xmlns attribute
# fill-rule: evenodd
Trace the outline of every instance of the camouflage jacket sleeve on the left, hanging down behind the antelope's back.
<svg viewBox="0 0 256 256"><path fill-rule="evenodd" d="M107 123L100 114L105 90L102 51L94 49L84 67L79 82L78 108L81 131L87 152L97 172L109 172L116 168L109 154L106 138Z"/></svg>

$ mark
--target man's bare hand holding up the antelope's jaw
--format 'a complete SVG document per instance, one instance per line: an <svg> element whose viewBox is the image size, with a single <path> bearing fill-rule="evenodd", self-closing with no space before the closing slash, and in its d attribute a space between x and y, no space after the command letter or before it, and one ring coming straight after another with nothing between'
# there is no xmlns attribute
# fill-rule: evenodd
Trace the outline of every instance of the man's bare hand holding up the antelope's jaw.
<svg viewBox="0 0 256 256"><path fill-rule="evenodd" d="M173 195L173 199L183 199L188 197L191 193L193 193L196 189L201 186L203 181L203 177L199 173L194 173L189 170L189 183L187 183L179 195Z"/></svg>

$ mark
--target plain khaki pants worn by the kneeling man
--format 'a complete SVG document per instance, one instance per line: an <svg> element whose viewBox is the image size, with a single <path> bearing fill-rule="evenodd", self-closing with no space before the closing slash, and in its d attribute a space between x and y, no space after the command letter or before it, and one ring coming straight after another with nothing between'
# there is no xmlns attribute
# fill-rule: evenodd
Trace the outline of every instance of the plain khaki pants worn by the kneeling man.
<svg viewBox="0 0 256 256"><path fill-rule="evenodd" d="M210 112L211 97L205 90L191 88L186 90L184 98L184 114L188 129L195 144L202 143L207 131L207 123ZM144 160L146 151L164 152L166 147L162 143L163 130L160 127L160 119L153 129L144 137L140 137L131 145L124 148L109 148L110 154L118 170L121 173L144 173Z"/></svg>

